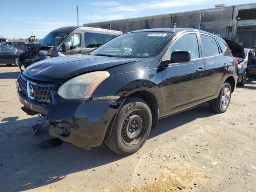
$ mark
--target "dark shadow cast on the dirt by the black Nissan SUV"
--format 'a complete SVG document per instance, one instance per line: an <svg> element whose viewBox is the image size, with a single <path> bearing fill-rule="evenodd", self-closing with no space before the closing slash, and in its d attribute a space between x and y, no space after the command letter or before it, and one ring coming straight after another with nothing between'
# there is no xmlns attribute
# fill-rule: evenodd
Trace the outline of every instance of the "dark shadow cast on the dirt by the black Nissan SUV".
<svg viewBox="0 0 256 192"><path fill-rule="evenodd" d="M205 104L164 118L159 120L158 128L151 131L149 139L197 118L212 115L214 113ZM17 118L4 118L0 124L1 192L24 191L54 184L68 174L91 168L97 171L99 166L126 158L110 151L105 144L86 151L66 142L50 139L47 125L33 136L32 125L38 123L40 118ZM84 178L86 176L85 172Z"/></svg>

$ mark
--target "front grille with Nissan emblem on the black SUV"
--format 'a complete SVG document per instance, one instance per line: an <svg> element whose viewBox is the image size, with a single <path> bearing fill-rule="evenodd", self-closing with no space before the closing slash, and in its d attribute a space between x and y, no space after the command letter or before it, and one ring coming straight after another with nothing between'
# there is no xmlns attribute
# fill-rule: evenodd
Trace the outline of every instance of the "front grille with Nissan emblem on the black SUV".
<svg viewBox="0 0 256 192"><path fill-rule="evenodd" d="M22 76L22 74L20 74L18 80L20 90L24 93L24 95L39 102L47 102L50 93L55 86L54 84L34 83L27 80L24 76Z"/></svg>

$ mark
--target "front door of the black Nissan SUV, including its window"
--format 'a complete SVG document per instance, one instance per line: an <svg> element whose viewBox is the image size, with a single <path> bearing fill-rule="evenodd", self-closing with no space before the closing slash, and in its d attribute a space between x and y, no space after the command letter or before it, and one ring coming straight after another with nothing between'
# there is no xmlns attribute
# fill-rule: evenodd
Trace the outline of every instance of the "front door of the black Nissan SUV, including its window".
<svg viewBox="0 0 256 192"><path fill-rule="evenodd" d="M163 106L161 116L173 114L200 103L204 90L205 66L200 56L198 36L195 32L177 38L164 54L162 61L170 60L175 50L191 52L191 61L170 63L162 68Z"/></svg>

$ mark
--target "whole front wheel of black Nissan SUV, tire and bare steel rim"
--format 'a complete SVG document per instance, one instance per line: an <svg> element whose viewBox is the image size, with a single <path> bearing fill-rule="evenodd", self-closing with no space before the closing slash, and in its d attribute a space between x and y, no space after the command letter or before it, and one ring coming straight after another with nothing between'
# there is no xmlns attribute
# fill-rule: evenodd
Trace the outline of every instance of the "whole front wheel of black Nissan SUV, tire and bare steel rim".
<svg viewBox="0 0 256 192"><path fill-rule="evenodd" d="M151 125L152 114L148 104L141 98L127 98L118 111L106 145L117 154L133 154L146 142Z"/></svg>

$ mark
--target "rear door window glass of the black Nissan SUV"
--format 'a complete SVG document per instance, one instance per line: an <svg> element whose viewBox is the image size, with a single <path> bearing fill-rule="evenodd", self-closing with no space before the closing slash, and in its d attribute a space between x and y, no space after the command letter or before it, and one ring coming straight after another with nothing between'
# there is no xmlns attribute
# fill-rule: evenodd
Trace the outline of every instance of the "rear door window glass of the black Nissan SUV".
<svg viewBox="0 0 256 192"><path fill-rule="evenodd" d="M204 57L210 57L219 54L217 42L213 37L200 34L200 38L202 41L202 50Z"/></svg>

